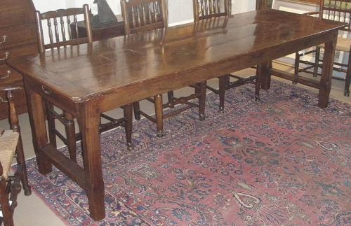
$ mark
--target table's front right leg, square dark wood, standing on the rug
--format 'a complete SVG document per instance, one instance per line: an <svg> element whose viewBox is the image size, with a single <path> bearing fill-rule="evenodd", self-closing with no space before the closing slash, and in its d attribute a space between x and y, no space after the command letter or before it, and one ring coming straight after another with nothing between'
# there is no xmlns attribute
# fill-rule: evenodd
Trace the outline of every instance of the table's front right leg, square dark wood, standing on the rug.
<svg viewBox="0 0 351 226"><path fill-rule="evenodd" d="M331 91L331 77L333 75L333 62L337 35L337 31L334 32L333 40L326 42L324 46L322 76L319 84L319 108L326 108L329 104L329 94Z"/></svg>

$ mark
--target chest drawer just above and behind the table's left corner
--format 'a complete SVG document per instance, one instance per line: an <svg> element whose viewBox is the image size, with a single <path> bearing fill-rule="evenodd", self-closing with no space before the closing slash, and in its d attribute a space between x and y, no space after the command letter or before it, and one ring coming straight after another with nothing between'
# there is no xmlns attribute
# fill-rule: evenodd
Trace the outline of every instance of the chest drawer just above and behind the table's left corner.
<svg viewBox="0 0 351 226"><path fill-rule="evenodd" d="M3 48L0 48L0 64L1 62L4 63L4 61L6 61L6 59L9 59L10 57L29 55L37 52L38 48L36 42L29 43L27 45L19 45L15 48L6 48L6 46L4 46Z"/></svg>

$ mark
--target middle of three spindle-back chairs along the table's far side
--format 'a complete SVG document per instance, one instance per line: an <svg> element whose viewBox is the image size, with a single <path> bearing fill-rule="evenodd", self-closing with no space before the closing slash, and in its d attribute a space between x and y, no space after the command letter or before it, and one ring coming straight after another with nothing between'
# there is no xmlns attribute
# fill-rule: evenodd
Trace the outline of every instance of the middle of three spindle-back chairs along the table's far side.
<svg viewBox="0 0 351 226"><path fill-rule="evenodd" d="M124 17L124 29L127 36L141 31L165 29L168 27L166 0L121 0L121 9ZM195 93L187 97L176 98L174 97L173 91L168 92L168 102L166 104L163 104L161 94L154 98L148 98L147 100L154 103L156 118L141 111L139 102L133 103L135 119L140 120L140 115L143 115L145 118L157 123L157 136L164 135L164 118L176 115L192 106L199 107L199 119L204 120L206 81L191 85L191 87L195 89ZM199 99L199 104L190 102L192 99ZM174 108L177 104L187 104L187 106L164 114L163 108Z"/></svg>

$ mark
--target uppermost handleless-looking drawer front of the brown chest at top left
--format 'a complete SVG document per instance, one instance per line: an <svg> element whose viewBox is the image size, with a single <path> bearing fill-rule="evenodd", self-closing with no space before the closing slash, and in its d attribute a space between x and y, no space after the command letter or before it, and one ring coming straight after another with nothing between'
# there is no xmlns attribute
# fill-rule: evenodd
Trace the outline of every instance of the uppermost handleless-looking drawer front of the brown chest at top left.
<svg viewBox="0 0 351 226"><path fill-rule="evenodd" d="M25 8L11 8L11 10L1 10L0 12L0 27L11 27L25 23L28 23Z"/></svg>

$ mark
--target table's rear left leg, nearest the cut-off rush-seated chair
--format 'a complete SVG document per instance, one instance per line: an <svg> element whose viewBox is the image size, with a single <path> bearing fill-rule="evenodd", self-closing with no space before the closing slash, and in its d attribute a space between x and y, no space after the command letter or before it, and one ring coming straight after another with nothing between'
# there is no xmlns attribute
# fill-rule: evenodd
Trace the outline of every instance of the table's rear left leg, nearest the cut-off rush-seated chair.
<svg viewBox="0 0 351 226"><path fill-rule="evenodd" d="M25 84L29 83L25 80ZM39 94L31 90L29 85L25 85L27 94L27 105L30 126L32 129L33 146L37 157L38 169L41 174L48 174L52 171L52 164L48 158L43 155L41 146L48 143L46 134L44 101Z"/></svg>

